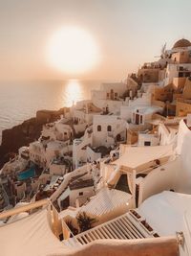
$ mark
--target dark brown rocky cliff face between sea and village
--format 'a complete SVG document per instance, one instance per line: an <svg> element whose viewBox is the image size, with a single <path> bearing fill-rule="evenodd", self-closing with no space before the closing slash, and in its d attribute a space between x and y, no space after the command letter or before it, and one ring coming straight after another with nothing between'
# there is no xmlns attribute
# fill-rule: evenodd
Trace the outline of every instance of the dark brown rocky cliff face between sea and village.
<svg viewBox="0 0 191 256"><path fill-rule="evenodd" d="M16 127L3 130L0 146L0 169L20 147L28 146L39 138L44 124L56 121L66 111L67 108L57 111L39 110L36 112L36 117L26 120Z"/></svg>

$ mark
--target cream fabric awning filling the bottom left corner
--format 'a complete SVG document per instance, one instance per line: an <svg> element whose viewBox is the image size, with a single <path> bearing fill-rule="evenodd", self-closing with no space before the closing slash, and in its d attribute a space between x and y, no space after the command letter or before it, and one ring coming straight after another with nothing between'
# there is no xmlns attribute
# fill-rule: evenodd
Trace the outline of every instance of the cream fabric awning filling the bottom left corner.
<svg viewBox="0 0 191 256"><path fill-rule="evenodd" d="M0 227L0 251L3 256L67 255L67 247L54 235L47 209Z"/></svg>

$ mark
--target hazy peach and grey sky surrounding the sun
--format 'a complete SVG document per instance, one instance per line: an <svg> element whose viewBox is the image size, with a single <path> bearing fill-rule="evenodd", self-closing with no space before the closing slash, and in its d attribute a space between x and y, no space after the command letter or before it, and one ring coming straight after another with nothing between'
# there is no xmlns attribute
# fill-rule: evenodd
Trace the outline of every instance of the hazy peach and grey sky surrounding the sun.
<svg viewBox="0 0 191 256"><path fill-rule="evenodd" d="M190 12L191 0L0 0L0 79L67 78L46 59L49 39L66 25L89 31L100 49L83 79L124 79L165 42L191 39Z"/></svg>

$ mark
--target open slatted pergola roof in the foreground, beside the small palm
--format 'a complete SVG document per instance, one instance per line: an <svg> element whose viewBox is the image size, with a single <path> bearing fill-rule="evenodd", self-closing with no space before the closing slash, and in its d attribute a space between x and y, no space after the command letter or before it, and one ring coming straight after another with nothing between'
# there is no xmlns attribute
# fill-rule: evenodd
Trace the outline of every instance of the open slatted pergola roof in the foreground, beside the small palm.
<svg viewBox="0 0 191 256"><path fill-rule="evenodd" d="M74 241L85 245L99 239L132 240L157 237L159 237L157 231L146 223L136 210L131 210L112 221L107 221L82 232L63 243L73 246Z"/></svg>

